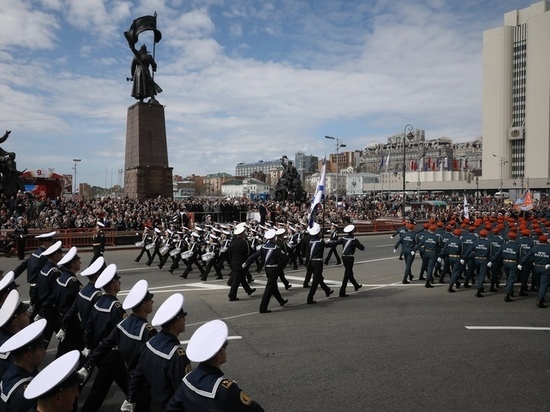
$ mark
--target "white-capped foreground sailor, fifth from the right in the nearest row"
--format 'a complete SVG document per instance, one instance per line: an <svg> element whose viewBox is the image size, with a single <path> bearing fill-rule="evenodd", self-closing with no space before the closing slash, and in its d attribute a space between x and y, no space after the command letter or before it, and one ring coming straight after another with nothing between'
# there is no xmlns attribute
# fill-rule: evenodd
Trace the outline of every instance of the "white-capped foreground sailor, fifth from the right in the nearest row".
<svg viewBox="0 0 550 412"><path fill-rule="evenodd" d="M88 279L88 283L80 289L71 308L65 313L61 320L61 329L65 334L73 334L69 330L74 329L74 336L77 340L77 349L84 349L84 329L90 316L93 306L101 296L101 290L95 287L95 281L105 269L103 256L97 258L94 263L80 272L80 276ZM59 336L62 338L63 334Z"/></svg>

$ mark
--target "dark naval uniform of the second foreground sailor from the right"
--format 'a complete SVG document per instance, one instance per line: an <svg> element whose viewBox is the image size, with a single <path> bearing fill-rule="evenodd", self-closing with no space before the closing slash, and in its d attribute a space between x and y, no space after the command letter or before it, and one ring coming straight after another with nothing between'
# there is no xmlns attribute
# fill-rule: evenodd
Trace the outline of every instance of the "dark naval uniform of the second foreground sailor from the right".
<svg viewBox="0 0 550 412"><path fill-rule="evenodd" d="M179 339L161 330L141 351L130 380L129 402L136 402L139 392L144 391L144 386L148 384L151 388L150 411L164 411L181 380L191 369Z"/></svg>

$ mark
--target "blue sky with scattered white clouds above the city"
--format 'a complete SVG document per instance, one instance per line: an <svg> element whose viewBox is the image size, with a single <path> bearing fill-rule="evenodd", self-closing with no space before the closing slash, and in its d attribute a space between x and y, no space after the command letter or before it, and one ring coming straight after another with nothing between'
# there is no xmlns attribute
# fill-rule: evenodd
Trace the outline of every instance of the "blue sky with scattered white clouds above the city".
<svg viewBox="0 0 550 412"><path fill-rule="evenodd" d="M481 134L483 31L535 0L0 0L0 131L19 170L100 187L124 169L132 52L157 13L174 175L334 153L402 133ZM153 46L151 31L137 46Z"/></svg>

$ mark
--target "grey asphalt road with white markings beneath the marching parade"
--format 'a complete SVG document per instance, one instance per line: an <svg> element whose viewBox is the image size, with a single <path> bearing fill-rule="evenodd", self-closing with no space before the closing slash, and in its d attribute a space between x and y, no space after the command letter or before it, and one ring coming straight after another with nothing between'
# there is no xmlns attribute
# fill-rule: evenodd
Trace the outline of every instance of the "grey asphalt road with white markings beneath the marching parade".
<svg viewBox="0 0 550 412"><path fill-rule="evenodd" d="M333 297L319 289L318 304L306 305L300 267L286 272L294 285L289 291L280 285L289 304L279 308L272 300L270 314L258 313L261 275L254 273L254 295L240 290L241 300L229 302L226 280L213 276L202 282L196 269L183 280L168 267L159 270L158 262L151 268L144 260L134 262L137 249L107 250L105 258L122 276L121 301L139 279L148 280L155 308L171 293L183 293L189 315L182 341L204 322L224 320L234 340L222 369L266 411L549 409L550 309L538 309L534 294L505 303L502 287L483 299L473 289L454 294L446 285L426 289L416 280L419 259L415 280L403 285L404 264L392 253L394 240L388 235L360 240L366 250L356 255L359 292L348 286L348 298L334 297L343 266L333 258L324 269ZM91 254L81 255L86 267ZM4 269L15 263L4 259ZM86 396L87 388L81 401ZM102 410L118 410L123 399L114 386Z"/></svg>

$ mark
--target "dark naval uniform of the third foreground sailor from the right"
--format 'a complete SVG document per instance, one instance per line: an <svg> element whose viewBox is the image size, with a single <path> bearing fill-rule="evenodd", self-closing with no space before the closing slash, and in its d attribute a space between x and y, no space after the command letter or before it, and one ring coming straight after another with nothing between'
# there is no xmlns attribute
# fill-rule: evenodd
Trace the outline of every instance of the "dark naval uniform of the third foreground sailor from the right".
<svg viewBox="0 0 550 412"><path fill-rule="evenodd" d="M118 323L109 336L101 341L99 346L94 349L84 367L91 370L114 348L118 347L131 379L145 343L156 334L157 330L147 322L147 319L132 313L122 322ZM139 391L134 401L136 403L134 412L148 411L149 404L151 403L150 391Z"/></svg>

